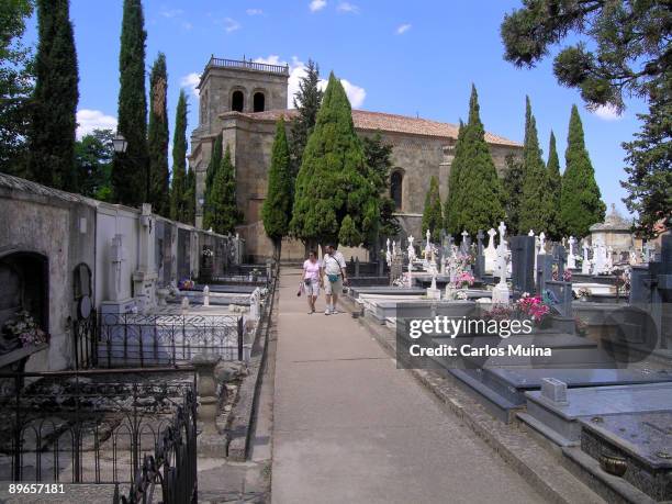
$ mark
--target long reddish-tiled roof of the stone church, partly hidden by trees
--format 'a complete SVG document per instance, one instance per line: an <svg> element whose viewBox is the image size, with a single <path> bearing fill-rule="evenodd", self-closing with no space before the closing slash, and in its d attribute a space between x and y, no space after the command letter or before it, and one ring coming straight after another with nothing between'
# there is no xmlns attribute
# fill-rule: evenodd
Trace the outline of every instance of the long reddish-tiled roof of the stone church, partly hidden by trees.
<svg viewBox="0 0 672 504"><path fill-rule="evenodd" d="M225 116L239 114L255 121L277 121L280 115L290 120L296 115L295 109L267 110L265 112L226 112ZM370 112L368 110L352 110L352 122L355 128L360 131L380 131L389 133L402 133L407 135L435 136L439 138L456 139L458 126L450 123L440 123L422 117L410 117L406 115L387 114L384 112ZM522 147L517 142L509 141L503 136L485 132L485 141L489 144Z"/></svg>

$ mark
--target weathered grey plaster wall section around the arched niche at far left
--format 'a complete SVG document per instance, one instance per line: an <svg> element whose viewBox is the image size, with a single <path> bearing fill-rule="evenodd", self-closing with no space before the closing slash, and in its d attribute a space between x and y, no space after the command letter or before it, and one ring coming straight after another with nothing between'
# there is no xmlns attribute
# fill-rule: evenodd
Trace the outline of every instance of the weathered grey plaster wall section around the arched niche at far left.
<svg viewBox="0 0 672 504"><path fill-rule="evenodd" d="M19 183L18 183L19 182ZM31 355L26 371L61 370L72 363L76 317L75 268L86 264L96 278L96 209L87 200L0 175L0 260L15 253L46 258L45 283L31 279L30 295L44 295L49 334L46 349Z"/></svg>

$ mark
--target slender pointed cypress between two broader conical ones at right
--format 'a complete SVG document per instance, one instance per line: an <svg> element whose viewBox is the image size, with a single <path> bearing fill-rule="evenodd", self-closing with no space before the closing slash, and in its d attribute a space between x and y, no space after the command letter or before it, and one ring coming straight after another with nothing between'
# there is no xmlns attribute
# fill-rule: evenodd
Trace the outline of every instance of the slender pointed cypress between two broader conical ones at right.
<svg viewBox="0 0 672 504"><path fill-rule="evenodd" d="M525 143L523 145L523 193L520 198L518 232L529 229L549 233L553 223L552 200L549 199L549 178L541 158L537 121L531 113L529 97L525 103Z"/></svg>

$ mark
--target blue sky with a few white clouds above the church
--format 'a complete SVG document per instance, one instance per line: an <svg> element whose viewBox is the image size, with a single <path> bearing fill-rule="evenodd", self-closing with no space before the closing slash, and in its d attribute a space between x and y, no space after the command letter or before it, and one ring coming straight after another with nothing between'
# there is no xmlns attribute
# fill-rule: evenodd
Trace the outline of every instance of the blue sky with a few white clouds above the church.
<svg viewBox="0 0 672 504"><path fill-rule="evenodd" d="M143 5L147 69L159 51L166 54L171 121L184 87L190 92L189 131L197 125L198 110L191 85L211 54L287 61L292 86L301 64L313 58L323 76L334 70L347 80L357 108L451 123L466 117L474 82L485 128L515 141L523 139L529 94L545 156L552 128L562 166L570 108L578 103L603 199L625 213L618 183L625 178L620 143L639 128L635 114L645 104L628 101L620 117L609 111L591 113L575 90L556 82L551 58L531 70L504 61L500 23L519 1L145 0ZM113 127L122 1L71 0L70 16L79 60L80 124ZM26 38L35 41L35 20Z"/></svg>

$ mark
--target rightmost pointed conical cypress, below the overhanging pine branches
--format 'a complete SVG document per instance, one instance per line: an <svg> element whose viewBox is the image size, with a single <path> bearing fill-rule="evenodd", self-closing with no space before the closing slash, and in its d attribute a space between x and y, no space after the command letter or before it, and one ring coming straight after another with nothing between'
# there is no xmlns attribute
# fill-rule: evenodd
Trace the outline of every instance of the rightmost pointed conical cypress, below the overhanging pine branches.
<svg viewBox="0 0 672 504"><path fill-rule="evenodd" d="M564 233L584 237L589 227L604 221L606 211L601 200L595 172L583 139L583 125L576 105L570 116L564 175L560 195L560 220Z"/></svg>

